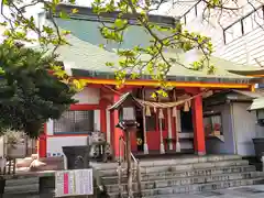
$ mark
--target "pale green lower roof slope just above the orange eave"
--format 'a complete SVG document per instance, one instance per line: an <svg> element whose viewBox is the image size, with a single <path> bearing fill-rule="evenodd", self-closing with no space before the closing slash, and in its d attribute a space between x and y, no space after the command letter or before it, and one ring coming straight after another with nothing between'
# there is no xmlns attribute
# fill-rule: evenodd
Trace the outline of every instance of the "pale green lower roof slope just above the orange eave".
<svg viewBox="0 0 264 198"><path fill-rule="evenodd" d="M81 41L76 36L69 35L67 37L72 46L62 46L57 50L61 54L59 59L66 65L70 65L74 76L78 77L97 77L97 78L114 78L114 70L106 66L107 62L117 63L119 57L116 53L102 50L89 42ZM166 56L177 57L178 61L188 66L185 63L184 54L166 53ZM237 74L229 73L226 68L243 67L232 62L228 62L221 58L211 57L211 63L217 67L213 75L208 75L207 70L193 70L187 69L182 65L175 64L169 73L168 80L178 81L210 81L210 82L249 82L251 77L245 77ZM148 76L143 76L144 79L148 79Z"/></svg>

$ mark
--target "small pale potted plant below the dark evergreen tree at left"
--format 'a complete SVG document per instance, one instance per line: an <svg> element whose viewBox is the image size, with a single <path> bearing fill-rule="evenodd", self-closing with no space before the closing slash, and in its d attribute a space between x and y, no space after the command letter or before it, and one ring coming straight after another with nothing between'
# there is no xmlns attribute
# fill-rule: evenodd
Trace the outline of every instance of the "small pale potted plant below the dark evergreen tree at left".
<svg viewBox="0 0 264 198"><path fill-rule="evenodd" d="M7 130L4 132L7 157L23 158L26 155L25 135L19 131Z"/></svg>

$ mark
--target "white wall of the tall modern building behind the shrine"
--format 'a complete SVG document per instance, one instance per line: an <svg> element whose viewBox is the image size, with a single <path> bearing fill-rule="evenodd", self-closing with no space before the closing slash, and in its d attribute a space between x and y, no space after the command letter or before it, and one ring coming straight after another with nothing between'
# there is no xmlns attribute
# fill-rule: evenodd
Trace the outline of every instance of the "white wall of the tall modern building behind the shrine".
<svg viewBox="0 0 264 198"><path fill-rule="evenodd" d="M245 4L242 2L241 4ZM255 8L257 8L260 3L255 3ZM224 44L223 41L223 28L229 26L232 22L240 19L242 15L251 12L253 8L246 4L239 14L237 15L227 15L219 16L219 18L210 18L209 23L204 21L200 13L197 16L191 16L187 21L186 29L194 32L199 32L204 35L210 36L212 38L212 43L215 46L215 55L222 57L228 61L233 61L240 64L250 64L258 66L255 58L261 64L264 64L264 29L255 28L250 30L249 33L244 34L243 36L238 36L238 38L233 40L232 42ZM198 10L200 12L201 9ZM213 13L211 13L213 15ZM223 14L224 15L224 14ZM221 20L219 20L221 19ZM263 20L263 16L262 16ZM221 25L219 24L221 21ZM235 34L237 31L240 31L240 26L234 29L232 32ZM249 30L249 25L244 26L244 29Z"/></svg>

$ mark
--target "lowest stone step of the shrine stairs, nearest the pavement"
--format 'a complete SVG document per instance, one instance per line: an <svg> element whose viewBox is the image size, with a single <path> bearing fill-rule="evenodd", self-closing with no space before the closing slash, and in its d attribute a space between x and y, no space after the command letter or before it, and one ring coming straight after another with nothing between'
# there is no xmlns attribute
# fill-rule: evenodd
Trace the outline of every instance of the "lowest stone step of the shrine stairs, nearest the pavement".
<svg viewBox="0 0 264 198"><path fill-rule="evenodd" d="M165 198L166 196L177 195L177 194L190 194L190 193L199 193L199 191L210 191L216 189L223 189L230 187L239 187L239 186L248 186L248 185L256 185L262 184L263 177L261 178L250 178L250 179L237 179L237 180L224 180L217 183L207 183L207 184L194 184L194 185L184 185L184 186L174 186L167 188L154 188L154 189L144 189L142 190L143 198ZM135 197L138 193L134 193ZM119 198L118 193L109 194L110 198ZM125 193L123 193L123 197ZM175 196L176 197L176 196Z"/></svg>

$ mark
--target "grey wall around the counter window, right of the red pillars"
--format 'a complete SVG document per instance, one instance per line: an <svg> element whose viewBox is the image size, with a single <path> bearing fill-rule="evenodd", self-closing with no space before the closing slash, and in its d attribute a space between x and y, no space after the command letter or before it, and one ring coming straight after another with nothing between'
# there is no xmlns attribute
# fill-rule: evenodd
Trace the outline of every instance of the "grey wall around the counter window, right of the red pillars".
<svg viewBox="0 0 264 198"><path fill-rule="evenodd" d="M211 107L213 112L220 112L222 117L222 128L224 142L216 138L206 139L206 150L208 154L234 154L234 138L232 133L232 120L230 106L221 105Z"/></svg>

